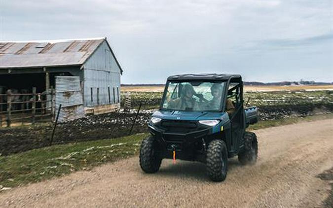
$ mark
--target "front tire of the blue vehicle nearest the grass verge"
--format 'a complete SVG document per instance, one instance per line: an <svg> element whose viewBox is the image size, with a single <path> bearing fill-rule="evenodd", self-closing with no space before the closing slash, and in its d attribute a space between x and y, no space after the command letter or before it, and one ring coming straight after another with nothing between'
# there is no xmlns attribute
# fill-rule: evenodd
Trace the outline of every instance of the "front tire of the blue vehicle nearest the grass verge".
<svg viewBox="0 0 333 208"><path fill-rule="evenodd" d="M140 167L145 173L156 173L159 170L162 157L157 151L157 143L153 137L142 141L139 158Z"/></svg>

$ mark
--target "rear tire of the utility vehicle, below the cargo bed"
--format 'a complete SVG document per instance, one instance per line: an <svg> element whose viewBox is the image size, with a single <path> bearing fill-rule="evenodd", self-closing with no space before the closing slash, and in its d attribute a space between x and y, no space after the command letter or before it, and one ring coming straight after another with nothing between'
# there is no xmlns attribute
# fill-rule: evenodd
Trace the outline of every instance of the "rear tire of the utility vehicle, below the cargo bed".
<svg viewBox="0 0 333 208"><path fill-rule="evenodd" d="M242 165L254 165L258 158L258 140L253 132L245 132L244 150L238 154L238 160Z"/></svg>

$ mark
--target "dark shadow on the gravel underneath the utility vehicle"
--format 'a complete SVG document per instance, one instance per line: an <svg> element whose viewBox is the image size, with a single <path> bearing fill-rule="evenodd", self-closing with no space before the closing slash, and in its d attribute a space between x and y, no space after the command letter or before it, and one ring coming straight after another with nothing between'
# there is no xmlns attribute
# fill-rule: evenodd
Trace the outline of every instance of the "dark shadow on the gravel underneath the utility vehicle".
<svg viewBox="0 0 333 208"><path fill-rule="evenodd" d="M241 164L236 158L228 160L228 174L234 172ZM188 178L199 181L211 181L206 174L206 165L200 162L188 162L188 161L176 161L176 164L172 163L172 160L164 159L160 170L155 173L156 176L162 175L166 177L175 178Z"/></svg>

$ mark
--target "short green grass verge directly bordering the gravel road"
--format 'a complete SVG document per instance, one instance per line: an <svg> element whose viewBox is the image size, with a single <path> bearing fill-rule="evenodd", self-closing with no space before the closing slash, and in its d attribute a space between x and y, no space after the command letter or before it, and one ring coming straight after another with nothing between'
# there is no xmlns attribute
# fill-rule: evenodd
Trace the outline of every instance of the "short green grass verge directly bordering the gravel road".
<svg viewBox="0 0 333 208"><path fill-rule="evenodd" d="M333 114L263 121L250 126L250 130L333 118ZM137 134L118 139L85 141L54 145L19 154L0 156L0 185L15 187L38 182L55 176L90 170L107 162L136 155L140 142L148 134Z"/></svg>

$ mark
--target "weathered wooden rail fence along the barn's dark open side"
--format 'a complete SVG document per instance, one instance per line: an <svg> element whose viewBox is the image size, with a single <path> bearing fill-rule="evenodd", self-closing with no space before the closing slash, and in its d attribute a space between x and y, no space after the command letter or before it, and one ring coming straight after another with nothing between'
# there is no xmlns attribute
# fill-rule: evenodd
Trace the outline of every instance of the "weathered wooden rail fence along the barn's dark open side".
<svg viewBox="0 0 333 208"><path fill-rule="evenodd" d="M36 92L36 87L32 88L32 93L12 93L7 90L6 94L0 94L0 127L3 121L7 127L15 123L35 123L38 120L54 119L55 111L55 91Z"/></svg>

